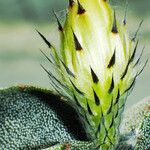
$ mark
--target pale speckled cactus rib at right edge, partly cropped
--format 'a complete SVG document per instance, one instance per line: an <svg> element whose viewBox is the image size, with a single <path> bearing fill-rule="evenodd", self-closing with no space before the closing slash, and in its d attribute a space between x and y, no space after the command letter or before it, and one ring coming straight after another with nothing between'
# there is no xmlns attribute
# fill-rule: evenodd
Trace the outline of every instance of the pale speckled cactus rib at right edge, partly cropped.
<svg viewBox="0 0 150 150"><path fill-rule="evenodd" d="M126 144L136 150L150 149L150 98L126 110L120 127Z"/></svg>

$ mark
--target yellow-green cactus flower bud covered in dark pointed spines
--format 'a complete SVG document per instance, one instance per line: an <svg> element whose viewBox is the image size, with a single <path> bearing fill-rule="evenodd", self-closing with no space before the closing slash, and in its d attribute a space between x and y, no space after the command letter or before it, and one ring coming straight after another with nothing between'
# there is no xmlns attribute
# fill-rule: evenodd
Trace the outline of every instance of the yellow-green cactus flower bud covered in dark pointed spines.
<svg viewBox="0 0 150 150"><path fill-rule="evenodd" d="M136 36L129 38L126 18L119 24L106 0L69 0L64 26L56 19L59 49L39 32L51 49L50 70L42 67L98 149L114 149L127 96L143 69L135 58Z"/></svg>

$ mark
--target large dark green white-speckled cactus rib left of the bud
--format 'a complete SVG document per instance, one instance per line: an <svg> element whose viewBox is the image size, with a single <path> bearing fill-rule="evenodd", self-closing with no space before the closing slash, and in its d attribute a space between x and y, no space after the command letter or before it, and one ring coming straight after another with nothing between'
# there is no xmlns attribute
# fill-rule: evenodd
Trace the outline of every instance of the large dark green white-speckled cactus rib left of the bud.
<svg viewBox="0 0 150 150"><path fill-rule="evenodd" d="M75 110L51 91L32 87L0 91L0 150L40 149L89 139Z"/></svg>

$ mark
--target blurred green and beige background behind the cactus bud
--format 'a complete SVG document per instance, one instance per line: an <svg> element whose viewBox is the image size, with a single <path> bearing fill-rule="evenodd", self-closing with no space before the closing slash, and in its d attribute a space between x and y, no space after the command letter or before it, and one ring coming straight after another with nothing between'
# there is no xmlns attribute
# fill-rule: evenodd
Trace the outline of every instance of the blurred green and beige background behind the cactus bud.
<svg viewBox="0 0 150 150"><path fill-rule="evenodd" d="M122 21L125 0L110 0ZM39 49L47 47L36 33L40 30L58 46L57 24L52 13L56 11L63 21L67 0L0 0L0 87L18 84L49 88L49 79L40 64L46 64ZM144 60L150 57L150 1L129 0L128 29L133 37L139 22L144 23L138 34L139 53L145 45ZM127 106L150 96L150 62L138 78L128 98Z"/></svg>

